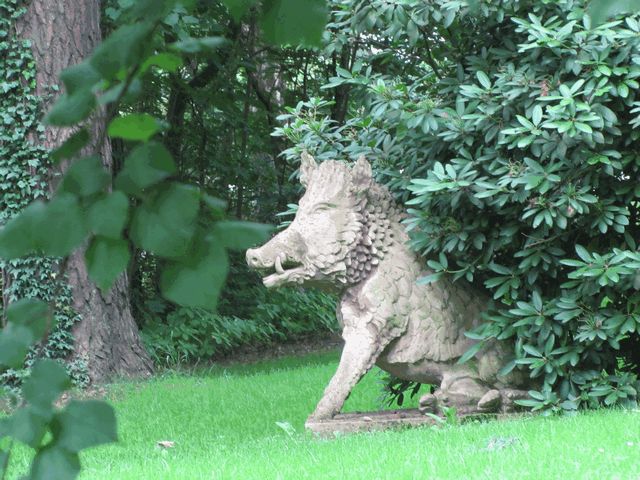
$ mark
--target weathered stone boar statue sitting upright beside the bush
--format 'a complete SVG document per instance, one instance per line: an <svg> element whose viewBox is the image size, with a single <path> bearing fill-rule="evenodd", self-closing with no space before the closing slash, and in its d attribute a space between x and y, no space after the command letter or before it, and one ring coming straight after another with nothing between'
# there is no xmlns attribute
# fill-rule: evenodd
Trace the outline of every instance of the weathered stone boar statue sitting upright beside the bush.
<svg viewBox="0 0 640 480"><path fill-rule="evenodd" d="M289 227L247 263L272 274L269 287L298 284L337 290L337 316L345 341L338 369L307 425L333 418L374 364L405 380L436 385L420 399L422 411L455 406L460 413L501 412L526 392L519 372L498 376L507 353L486 346L464 364L475 343L464 332L480 321L486 299L469 285L416 280L422 268L408 246L402 211L375 183L361 157L353 168L338 161L316 164L303 153L300 180L306 192Z"/></svg>

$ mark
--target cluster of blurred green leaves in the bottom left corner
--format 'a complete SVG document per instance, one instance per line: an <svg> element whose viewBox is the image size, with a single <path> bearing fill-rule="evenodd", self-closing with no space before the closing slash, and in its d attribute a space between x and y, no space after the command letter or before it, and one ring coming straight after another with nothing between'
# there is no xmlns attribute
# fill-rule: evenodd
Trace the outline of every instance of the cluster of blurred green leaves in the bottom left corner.
<svg viewBox="0 0 640 480"><path fill-rule="evenodd" d="M9 324L0 332L0 366L15 367L24 362L29 348L51 327L47 304L23 300L11 305ZM38 360L22 387L25 405L0 419L0 440L8 437L36 450L27 478L75 478L80 471L78 452L117 440L116 418L105 402L70 402L57 410L54 402L71 385L60 363ZM0 463L4 478L8 450L0 450L7 459Z"/></svg>

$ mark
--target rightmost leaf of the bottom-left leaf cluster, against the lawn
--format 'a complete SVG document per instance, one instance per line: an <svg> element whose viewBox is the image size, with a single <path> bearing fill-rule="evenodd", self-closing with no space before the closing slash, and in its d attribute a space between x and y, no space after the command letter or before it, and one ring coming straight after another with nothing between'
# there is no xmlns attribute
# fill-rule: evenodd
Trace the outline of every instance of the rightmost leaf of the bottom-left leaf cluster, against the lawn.
<svg viewBox="0 0 640 480"><path fill-rule="evenodd" d="M118 441L113 407L100 400L72 400L56 414L56 445L70 452Z"/></svg>

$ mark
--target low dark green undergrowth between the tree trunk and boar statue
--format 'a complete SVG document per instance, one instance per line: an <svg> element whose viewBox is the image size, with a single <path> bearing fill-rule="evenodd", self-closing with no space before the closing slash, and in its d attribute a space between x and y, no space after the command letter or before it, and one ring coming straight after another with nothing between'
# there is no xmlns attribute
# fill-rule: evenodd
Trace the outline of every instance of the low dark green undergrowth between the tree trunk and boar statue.
<svg viewBox="0 0 640 480"><path fill-rule="evenodd" d="M263 287L253 287L246 301L253 304L246 312L234 302L231 308L221 305L222 312L229 313L213 313L187 307L172 310L156 300L147 308L155 314L141 331L152 360L169 367L194 364L241 346L337 329L335 298L328 294L300 289L265 293Z"/></svg>

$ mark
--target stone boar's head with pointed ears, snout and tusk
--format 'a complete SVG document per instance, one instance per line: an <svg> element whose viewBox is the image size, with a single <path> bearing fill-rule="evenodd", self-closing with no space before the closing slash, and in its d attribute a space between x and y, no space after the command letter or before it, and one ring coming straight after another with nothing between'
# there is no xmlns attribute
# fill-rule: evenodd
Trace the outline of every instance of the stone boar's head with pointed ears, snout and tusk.
<svg viewBox="0 0 640 480"><path fill-rule="evenodd" d="M300 181L305 194L293 222L262 247L248 250L247 263L275 270L263 279L267 287L307 284L339 289L353 283L350 265L354 256L364 258L367 192L375 185L371 165L364 157L353 168L333 160L318 165L303 153Z"/></svg>

